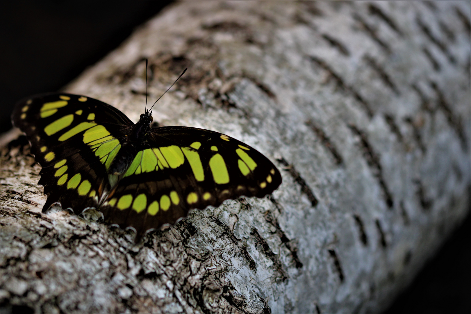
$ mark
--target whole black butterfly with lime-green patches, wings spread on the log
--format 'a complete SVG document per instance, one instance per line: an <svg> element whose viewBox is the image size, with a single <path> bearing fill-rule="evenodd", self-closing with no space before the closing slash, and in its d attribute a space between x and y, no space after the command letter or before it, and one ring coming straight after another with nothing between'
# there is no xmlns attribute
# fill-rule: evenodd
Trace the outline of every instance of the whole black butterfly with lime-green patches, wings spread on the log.
<svg viewBox="0 0 471 314"><path fill-rule="evenodd" d="M191 127L151 128L152 121L150 109L134 124L111 105L68 93L18 102L12 122L42 167L38 184L48 197L42 211L54 203L75 214L92 207L106 222L134 228L139 240L189 209L263 197L281 184L275 165L235 138Z"/></svg>

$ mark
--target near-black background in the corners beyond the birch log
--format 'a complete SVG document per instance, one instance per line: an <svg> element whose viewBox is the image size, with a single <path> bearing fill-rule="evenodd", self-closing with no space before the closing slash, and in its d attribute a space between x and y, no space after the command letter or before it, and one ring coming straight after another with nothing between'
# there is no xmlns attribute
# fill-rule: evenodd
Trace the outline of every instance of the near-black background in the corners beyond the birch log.
<svg viewBox="0 0 471 314"><path fill-rule="evenodd" d="M56 91L171 1L9 1L0 9L0 131L19 99ZM386 313L471 313L470 216ZM20 310L20 308L14 307Z"/></svg>

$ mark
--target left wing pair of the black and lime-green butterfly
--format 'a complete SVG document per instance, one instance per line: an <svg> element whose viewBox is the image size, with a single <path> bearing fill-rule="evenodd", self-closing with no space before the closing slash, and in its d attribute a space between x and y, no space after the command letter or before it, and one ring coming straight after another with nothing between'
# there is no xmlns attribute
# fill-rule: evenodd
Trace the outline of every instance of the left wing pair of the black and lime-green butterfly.
<svg viewBox="0 0 471 314"><path fill-rule="evenodd" d="M18 102L13 125L31 143L41 164L41 179L48 200L80 213L97 206L107 184L106 169L134 123L113 106L80 95L53 93Z"/></svg>

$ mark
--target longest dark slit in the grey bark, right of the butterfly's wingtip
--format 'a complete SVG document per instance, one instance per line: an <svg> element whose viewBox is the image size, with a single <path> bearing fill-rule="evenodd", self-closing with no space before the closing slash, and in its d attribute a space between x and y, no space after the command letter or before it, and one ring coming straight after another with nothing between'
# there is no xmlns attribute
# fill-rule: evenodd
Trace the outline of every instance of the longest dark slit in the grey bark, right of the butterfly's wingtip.
<svg viewBox="0 0 471 314"><path fill-rule="evenodd" d="M368 164L368 166L370 166L370 169L373 170L373 175L378 178L379 184L383 192L384 201L386 202L388 207L392 209L394 201L392 199L391 193L389 192L389 188L386 185L386 182L384 181L382 175L382 167L378 154L374 152L373 147L368 142L365 133L357 129L357 127L355 127L354 125L349 125L349 127L354 134L360 137L360 143L364 150L363 156L365 157L366 163Z"/></svg>

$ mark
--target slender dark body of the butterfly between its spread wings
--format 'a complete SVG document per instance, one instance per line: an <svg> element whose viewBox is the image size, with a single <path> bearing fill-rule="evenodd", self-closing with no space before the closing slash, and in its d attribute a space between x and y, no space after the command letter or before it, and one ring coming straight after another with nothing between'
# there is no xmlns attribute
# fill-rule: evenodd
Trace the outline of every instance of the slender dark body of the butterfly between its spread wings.
<svg viewBox="0 0 471 314"><path fill-rule="evenodd" d="M151 113L146 112L141 114L138 123L133 126L131 132L121 141L121 149L108 170L110 175L122 175L129 168L138 152L138 148L142 146L145 140L152 120Z"/></svg>

